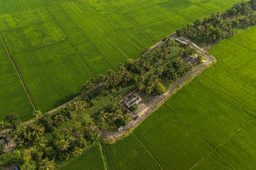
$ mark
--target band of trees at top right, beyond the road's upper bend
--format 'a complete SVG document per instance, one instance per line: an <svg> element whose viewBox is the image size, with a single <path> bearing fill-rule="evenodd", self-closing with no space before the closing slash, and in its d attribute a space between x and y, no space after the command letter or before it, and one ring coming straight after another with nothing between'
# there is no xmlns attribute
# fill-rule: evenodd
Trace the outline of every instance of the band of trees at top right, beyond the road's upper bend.
<svg viewBox="0 0 256 170"><path fill-rule="evenodd" d="M192 25L186 25L178 29L178 36L184 36L191 40L199 39L202 42L213 44L231 36L235 28L244 28L255 25L254 14L255 1L237 3L224 14L212 14L202 21L197 20Z"/></svg>

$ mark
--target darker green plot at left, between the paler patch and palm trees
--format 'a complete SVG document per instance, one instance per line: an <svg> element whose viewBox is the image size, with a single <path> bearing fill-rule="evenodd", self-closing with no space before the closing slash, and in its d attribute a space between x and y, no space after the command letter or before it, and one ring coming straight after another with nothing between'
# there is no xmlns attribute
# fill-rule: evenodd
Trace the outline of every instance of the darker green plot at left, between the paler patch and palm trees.
<svg viewBox="0 0 256 170"><path fill-rule="evenodd" d="M67 40L14 56L37 106L50 110L76 96L92 73Z"/></svg>

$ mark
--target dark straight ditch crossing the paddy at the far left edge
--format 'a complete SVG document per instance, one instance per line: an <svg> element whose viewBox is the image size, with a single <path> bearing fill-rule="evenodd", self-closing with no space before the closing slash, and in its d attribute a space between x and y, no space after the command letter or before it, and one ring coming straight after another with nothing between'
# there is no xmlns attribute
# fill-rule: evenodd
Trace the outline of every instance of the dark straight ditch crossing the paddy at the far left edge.
<svg viewBox="0 0 256 170"><path fill-rule="evenodd" d="M14 65L14 67L15 67L18 75L19 75L19 78L20 78L20 80L21 80L21 82L23 84L23 87L25 88L25 91L27 92L27 94L28 94L28 96L30 98L30 101L32 102L32 106L34 107L35 110L38 110L38 108L36 106L36 103L34 102L34 99L33 99L32 95L31 95L30 91L28 90L28 86L27 86L27 84L25 84L25 80L23 79L23 77L21 75L21 71L19 71L19 68L18 68L16 62L15 62L14 58L12 57L12 54L10 53L10 50L9 50L8 46L6 45L6 40L3 38L3 34L2 34L1 31L0 31L0 35L1 35L1 39L3 40L4 45L6 47L6 50L8 51L9 57L12 60L12 64Z"/></svg>

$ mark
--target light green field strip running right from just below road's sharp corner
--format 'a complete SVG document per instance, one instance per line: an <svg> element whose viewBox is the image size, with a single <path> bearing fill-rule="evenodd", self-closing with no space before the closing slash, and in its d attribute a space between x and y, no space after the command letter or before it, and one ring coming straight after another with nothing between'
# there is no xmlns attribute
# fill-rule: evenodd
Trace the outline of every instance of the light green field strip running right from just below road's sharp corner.
<svg viewBox="0 0 256 170"><path fill-rule="evenodd" d="M198 76L198 80L249 114L256 114L255 86L224 68L221 63L211 66L208 71Z"/></svg>

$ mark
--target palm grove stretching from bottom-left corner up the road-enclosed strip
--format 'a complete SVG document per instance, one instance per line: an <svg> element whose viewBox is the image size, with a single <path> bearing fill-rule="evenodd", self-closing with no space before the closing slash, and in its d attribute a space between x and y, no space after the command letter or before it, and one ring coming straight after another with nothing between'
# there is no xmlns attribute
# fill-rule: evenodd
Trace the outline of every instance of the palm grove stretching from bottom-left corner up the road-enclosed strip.
<svg viewBox="0 0 256 170"><path fill-rule="evenodd" d="M195 53L186 46L176 56L170 57L173 45L174 40L165 38L164 45L149 55L141 56L138 60L129 59L125 64L120 64L117 71L110 70L98 79L91 78L82 89L87 95L52 114L34 112L35 121L30 125L21 123L17 114L8 114L6 121L0 122L0 130L11 129L10 136L17 141L18 149L12 162L16 162L21 170L55 169L56 161L78 156L83 149L97 141L98 129L118 129L125 126L131 117L127 110L117 104L116 99L93 114L88 114L86 109L93 106L94 97L105 96L105 92L122 88L129 83L135 84L140 93L148 96L164 93L161 80L173 82L191 70L192 66L182 58ZM96 92L88 93L99 84L105 86L96 90L97 95ZM76 119L78 116L79 119ZM69 127L63 125L69 120L74 122L74 119L77 120L76 123Z"/></svg>

